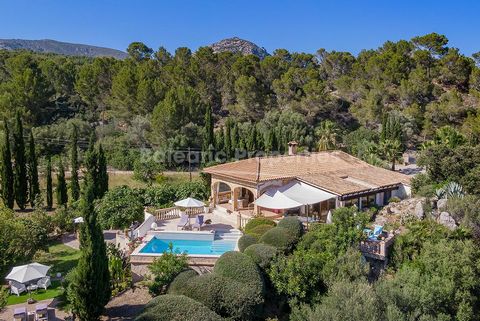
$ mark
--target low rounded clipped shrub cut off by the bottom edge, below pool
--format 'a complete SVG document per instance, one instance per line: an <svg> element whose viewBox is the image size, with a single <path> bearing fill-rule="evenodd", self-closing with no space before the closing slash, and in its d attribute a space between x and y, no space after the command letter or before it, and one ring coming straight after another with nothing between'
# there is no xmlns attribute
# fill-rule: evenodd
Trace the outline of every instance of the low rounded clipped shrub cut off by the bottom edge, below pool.
<svg viewBox="0 0 480 321"><path fill-rule="evenodd" d="M198 301L183 295L161 295L151 300L136 321L222 321Z"/></svg>

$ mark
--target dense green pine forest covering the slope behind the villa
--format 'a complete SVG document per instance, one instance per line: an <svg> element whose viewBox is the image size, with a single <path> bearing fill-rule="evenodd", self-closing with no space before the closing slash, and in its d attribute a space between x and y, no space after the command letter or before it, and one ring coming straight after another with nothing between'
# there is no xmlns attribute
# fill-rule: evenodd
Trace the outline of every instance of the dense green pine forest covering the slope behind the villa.
<svg viewBox="0 0 480 321"><path fill-rule="evenodd" d="M436 33L357 56L278 49L260 60L138 42L127 51L124 60L0 51L0 113L21 110L43 155L63 151L72 125L81 148L95 130L119 169L131 169L142 148L233 157L283 152L293 139L385 165L392 150L418 148L437 130L455 128L472 142L480 135L480 54L466 57ZM400 146L379 143L385 119L401 126Z"/></svg>

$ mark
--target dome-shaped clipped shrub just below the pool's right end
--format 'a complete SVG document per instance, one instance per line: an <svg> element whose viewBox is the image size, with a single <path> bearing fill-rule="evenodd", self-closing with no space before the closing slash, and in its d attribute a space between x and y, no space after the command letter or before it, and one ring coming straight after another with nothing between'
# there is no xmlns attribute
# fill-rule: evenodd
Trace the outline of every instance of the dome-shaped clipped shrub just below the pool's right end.
<svg viewBox="0 0 480 321"><path fill-rule="evenodd" d="M264 292L263 276L249 256L240 252L226 252L215 263L213 269L218 275L241 283L248 283L258 293Z"/></svg>

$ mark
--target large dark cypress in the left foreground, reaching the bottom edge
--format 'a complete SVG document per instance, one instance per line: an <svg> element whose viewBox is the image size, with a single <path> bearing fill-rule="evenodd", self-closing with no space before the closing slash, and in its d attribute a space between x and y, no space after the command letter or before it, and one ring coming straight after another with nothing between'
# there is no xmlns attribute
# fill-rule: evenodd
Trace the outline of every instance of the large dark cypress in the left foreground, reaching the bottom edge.
<svg viewBox="0 0 480 321"><path fill-rule="evenodd" d="M82 321L98 320L110 300L110 273L103 232L93 206L94 182L85 178L81 211L84 223L80 227L80 259L68 287L68 298L75 315Z"/></svg>

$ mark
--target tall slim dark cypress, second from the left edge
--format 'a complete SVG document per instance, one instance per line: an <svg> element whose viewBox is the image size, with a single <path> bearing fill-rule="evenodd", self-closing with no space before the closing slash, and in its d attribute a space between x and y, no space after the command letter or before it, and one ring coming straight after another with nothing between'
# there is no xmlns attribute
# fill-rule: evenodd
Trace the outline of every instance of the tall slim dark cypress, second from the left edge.
<svg viewBox="0 0 480 321"><path fill-rule="evenodd" d="M25 141L23 139L23 124L20 112L16 113L16 126L13 133L14 191L18 207L23 210L28 200L27 164L25 157Z"/></svg>

